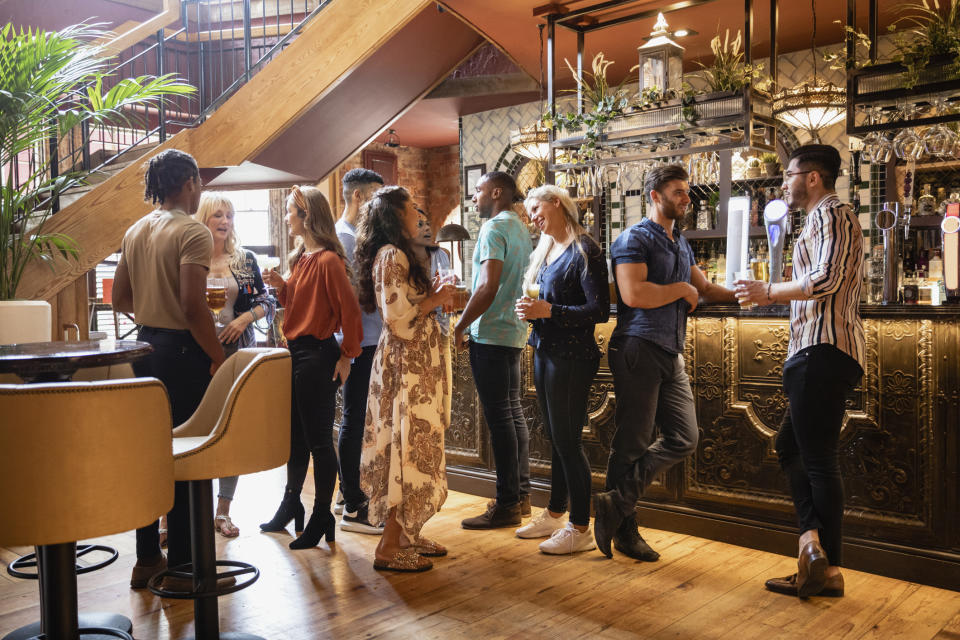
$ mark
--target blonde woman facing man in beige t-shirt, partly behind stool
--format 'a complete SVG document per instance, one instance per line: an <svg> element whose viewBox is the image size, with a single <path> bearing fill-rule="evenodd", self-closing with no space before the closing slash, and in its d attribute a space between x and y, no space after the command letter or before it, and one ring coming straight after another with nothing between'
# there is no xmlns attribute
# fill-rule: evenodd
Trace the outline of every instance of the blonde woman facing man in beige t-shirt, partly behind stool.
<svg viewBox="0 0 960 640"><path fill-rule="evenodd" d="M263 285L256 257L240 246L233 224L233 203L223 194L205 192L193 217L213 236L208 275L227 283L227 303L217 319L223 326L218 337L229 357L237 349L257 346L253 323L261 318L272 322L277 303ZM237 490L237 476L220 478L219 485L214 528L225 538L235 538L240 529L230 519L230 504Z"/></svg>

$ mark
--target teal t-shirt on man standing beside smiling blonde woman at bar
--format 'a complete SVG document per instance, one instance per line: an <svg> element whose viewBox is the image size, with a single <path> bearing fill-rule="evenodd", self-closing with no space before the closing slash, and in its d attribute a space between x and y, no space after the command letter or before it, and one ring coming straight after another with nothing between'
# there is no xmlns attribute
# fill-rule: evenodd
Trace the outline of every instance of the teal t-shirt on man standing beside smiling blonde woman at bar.
<svg viewBox="0 0 960 640"><path fill-rule="evenodd" d="M470 325L470 339L481 344L522 348L527 342L527 323L517 317L514 305L523 291L523 273L530 261L530 233L517 214L501 211L480 228L473 252L473 288L480 280L485 260L500 260L500 288L493 304Z"/></svg>

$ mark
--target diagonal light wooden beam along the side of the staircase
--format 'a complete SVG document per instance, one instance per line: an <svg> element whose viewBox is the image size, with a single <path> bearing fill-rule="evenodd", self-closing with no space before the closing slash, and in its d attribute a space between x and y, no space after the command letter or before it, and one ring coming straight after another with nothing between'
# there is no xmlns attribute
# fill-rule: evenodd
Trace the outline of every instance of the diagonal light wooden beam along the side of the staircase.
<svg viewBox="0 0 960 640"><path fill-rule="evenodd" d="M196 129L181 131L157 151L192 153L201 167L237 166L307 112L352 69L373 54L430 0L333 2L266 68L240 87ZM363 20L357 20L362 15ZM319 144L320 141L305 141ZM49 299L117 250L126 229L151 210L143 202L143 172L134 163L54 216L47 231L64 233L81 247L79 260L55 262L51 274L34 261L18 296Z"/></svg>

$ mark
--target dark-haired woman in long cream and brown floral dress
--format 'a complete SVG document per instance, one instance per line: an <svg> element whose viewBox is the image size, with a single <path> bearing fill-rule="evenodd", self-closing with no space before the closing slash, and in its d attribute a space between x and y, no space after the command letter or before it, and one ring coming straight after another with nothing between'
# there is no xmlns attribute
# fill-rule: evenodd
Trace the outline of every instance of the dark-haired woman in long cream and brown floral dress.
<svg viewBox="0 0 960 640"><path fill-rule="evenodd" d="M360 304L374 305L384 329L373 360L360 484L371 522L384 521L374 567L425 571L439 544L420 536L447 497L443 436L449 393L435 309L453 287L431 282L411 240L419 213L401 187L384 187L366 205L357 238Z"/></svg>

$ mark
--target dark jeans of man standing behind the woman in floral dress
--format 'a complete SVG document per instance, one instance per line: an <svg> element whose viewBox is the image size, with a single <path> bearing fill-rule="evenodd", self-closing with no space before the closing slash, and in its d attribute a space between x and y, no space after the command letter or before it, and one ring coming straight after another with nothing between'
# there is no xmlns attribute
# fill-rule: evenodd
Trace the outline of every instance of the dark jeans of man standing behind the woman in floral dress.
<svg viewBox="0 0 960 640"><path fill-rule="evenodd" d="M370 390L370 369L377 345L363 348L353 359L350 376L341 392L340 437L340 491L347 511L356 511L367 501L360 489L360 452L363 449L363 429L367 420L367 392Z"/></svg>

